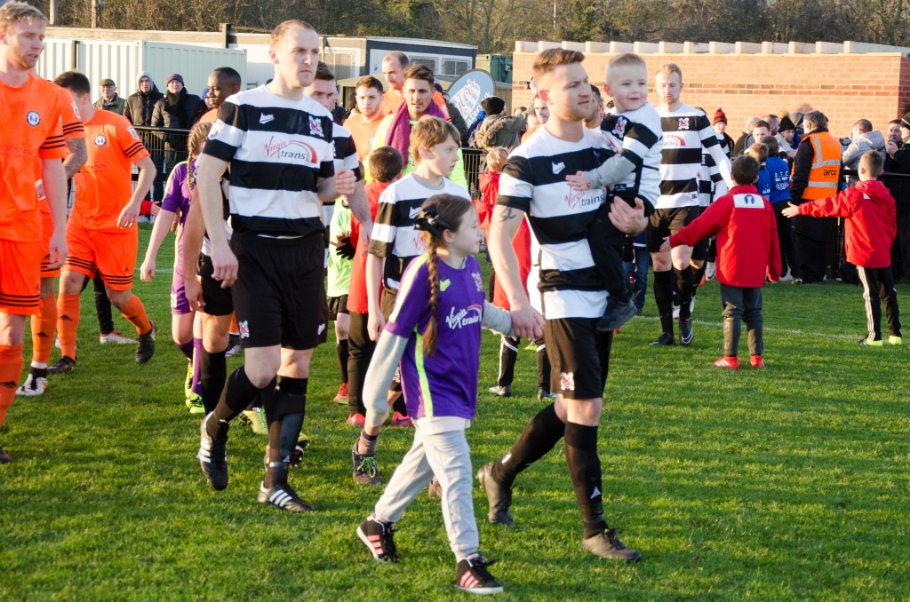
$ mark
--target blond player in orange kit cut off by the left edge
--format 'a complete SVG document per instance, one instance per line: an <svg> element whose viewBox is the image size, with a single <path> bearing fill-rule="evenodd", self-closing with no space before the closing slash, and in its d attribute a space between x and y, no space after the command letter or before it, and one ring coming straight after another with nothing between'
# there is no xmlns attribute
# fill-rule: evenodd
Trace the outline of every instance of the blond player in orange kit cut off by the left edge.
<svg viewBox="0 0 910 602"><path fill-rule="evenodd" d="M25 316L41 304L41 258L50 267L66 257L66 142L59 96L31 74L44 47L47 20L35 6L8 2L0 7L0 426L13 404L22 373ZM54 234L42 243L35 191L35 156L50 206ZM0 446L0 464L10 462Z"/></svg>

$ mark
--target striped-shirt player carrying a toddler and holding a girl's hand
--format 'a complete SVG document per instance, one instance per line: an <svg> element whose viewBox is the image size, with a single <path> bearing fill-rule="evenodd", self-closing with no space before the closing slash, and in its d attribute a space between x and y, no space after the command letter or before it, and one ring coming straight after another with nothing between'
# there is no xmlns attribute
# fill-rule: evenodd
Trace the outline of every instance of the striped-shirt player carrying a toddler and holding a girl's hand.
<svg viewBox="0 0 910 602"><path fill-rule="evenodd" d="M583 60L580 52L561 48L537 55L534 81L550 106L550 119L509 157L490 222L490 255L509 296L515 336L534 338L543 331L556 400L531 418L505 456L481 467L478 478L487 493L490 522L511 525L515 477L564 438L581 510L582 546L598 557L632 561L641 555L622 543L603 516L597 455L612 332L597 330L607 293L593 265L589 231L605 194L603 188L580 191L565 179L602 161L601 132L583 123L593 102ZM540 248L545 322L524 291L511 246L525 215ZM614 200L610 219L625 234L641 232L646 224L642 201L632 208L622 198Z"/></svg>

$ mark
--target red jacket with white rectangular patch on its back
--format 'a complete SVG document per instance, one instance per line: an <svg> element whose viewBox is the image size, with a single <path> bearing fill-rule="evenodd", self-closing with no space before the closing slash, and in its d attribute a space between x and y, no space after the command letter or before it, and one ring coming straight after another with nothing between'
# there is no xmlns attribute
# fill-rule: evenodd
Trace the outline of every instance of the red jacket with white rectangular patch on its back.
<svg viewBox="0 0 910 602"><path fill-rule="evenodd" d="M781 249L774 210L755 186L733 186L692 224L670 236L671 246L693 246L717 234L717 281L757 288L764 276L781 277Z"/></svg>

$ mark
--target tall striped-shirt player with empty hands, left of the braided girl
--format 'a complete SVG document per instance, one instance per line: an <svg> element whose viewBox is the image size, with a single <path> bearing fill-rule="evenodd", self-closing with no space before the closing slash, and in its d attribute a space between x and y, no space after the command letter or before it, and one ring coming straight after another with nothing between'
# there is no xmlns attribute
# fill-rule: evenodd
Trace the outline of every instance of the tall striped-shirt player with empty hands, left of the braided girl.
<svg viewBox="0 0 910 602"><path fill-rule="evenodd" d="M246 357L202 421L199 465L213 488L227 487L230 421L265 393L268 452L258 502L291 512L314 509L288 485L288 467L306 412L309 361L328 327L322 204L349 195L351 211L366 230L372 226L366 197L354 195L357 177L335 170L331 114L304 94L320 49L306 22L272 31L274 78L225 100L197 173L212 277L232 286ZM228 167L229 243L220 188Z"/></svg>

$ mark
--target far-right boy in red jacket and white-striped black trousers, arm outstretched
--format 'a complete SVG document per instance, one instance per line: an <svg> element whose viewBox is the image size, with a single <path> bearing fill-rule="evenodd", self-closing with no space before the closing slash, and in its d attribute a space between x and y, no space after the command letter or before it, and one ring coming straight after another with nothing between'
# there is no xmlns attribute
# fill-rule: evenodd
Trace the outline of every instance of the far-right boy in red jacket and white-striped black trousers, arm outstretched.
<svg viewBox="0 0 910 602"><path fill-rule="evenodd" d="M782 214L787 217L836 216L846 218L847 261L856 266L863 283L865 316L869 334L860 345L882 346L882 307L888 319L888 343L901 345L901 312L897 307L895 277L891 273L891 245L895 242L897 217L895 199L879 182L884 159L868 151L859 160L859 184L827 198L790 204Z"/></svg>

